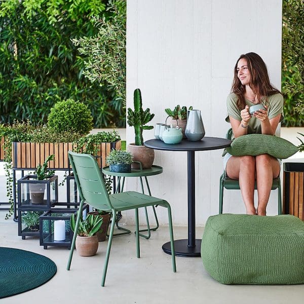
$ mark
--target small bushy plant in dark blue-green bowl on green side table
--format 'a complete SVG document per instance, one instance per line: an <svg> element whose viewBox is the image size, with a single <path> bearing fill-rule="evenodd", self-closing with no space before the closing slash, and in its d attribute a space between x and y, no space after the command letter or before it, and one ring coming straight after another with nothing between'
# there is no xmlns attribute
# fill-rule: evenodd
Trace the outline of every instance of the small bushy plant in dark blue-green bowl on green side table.
<svg viewBox="0 0 304 304"><path fill-rule="evenodd" d="M106 162L112 172L131 173L132 157L128 151L113 149L106 157Z"/></svg>

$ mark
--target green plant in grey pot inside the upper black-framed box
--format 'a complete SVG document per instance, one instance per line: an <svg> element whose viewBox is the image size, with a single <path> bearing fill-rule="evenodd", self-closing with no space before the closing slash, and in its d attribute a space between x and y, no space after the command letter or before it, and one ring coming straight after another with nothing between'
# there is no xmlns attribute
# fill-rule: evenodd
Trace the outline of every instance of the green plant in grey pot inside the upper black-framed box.
<svg viewBox="0 0 304 304"><path fill-rule="evenodd" d="M54 160L54 154L50 155L43 165L39 164L37 166L37 170L34 172L34 179L38 181L42 181L48 178L51 178L55 171L49 170L48 171L48 162ZM32 204L44 204L44 194L46 190L46 183L36 182L36 183L29 183L29 191L31 195L31 202Z"/></svg>

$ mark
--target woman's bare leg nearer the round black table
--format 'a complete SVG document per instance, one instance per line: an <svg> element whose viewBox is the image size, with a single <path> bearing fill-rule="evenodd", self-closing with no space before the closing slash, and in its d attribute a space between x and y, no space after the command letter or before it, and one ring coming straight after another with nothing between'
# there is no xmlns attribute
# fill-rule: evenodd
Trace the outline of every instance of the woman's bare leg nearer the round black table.
<svg viewBox="0 0 304 304"><path fill-rule="evenodd" d="M254 207L255 157L231 157L226 165L226 174L232 179L239 179L246 213L256 214Z"/></svg>

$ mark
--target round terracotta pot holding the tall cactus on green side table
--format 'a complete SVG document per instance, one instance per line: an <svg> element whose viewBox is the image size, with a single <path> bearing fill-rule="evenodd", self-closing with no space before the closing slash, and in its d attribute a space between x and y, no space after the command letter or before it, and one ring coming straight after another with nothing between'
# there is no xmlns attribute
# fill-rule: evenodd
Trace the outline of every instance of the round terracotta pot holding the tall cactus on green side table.
<svg viewBox="0 0 304 304"><path fill-rule="evenodd" d="M145 146L136 146L135 143L128 144L127 150L133 154L133 161L141 162L143 169L151 168L154 162L154 149ZM139 169L139 164L132 164L132 169Z"/></svg>

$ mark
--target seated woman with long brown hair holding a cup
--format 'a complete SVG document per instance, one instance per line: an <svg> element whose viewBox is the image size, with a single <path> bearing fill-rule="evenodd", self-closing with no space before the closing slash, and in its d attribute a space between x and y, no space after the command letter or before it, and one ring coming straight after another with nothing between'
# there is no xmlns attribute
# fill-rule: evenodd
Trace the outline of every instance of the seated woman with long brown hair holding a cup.
<svg viewBox="0 0 304 304"><path fill-rule="evenodd" d="M275 134L283 120L283 96L271 85L267 67L259 55L240 56L231 92L227 97L226 121L231 123L234 138L252 133ZM250 115L249 107L257 103L262 103L265 110ZM235 157L224 151L224 169L228 177L239 179L246 213L266 215L273 178L280 173L279 160L268 154ZM254 206L255 179L257 209Z"/></svg>

